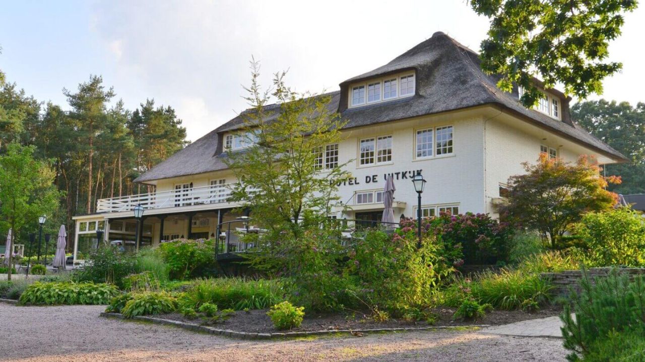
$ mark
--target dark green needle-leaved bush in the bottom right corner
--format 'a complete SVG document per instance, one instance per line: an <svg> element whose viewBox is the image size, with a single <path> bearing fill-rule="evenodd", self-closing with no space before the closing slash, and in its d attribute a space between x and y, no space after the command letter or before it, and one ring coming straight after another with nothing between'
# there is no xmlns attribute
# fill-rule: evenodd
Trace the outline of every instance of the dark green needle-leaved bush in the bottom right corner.
<svg viewBox="0 0 645 362"><path fill-rule="evenodd" d="M644 276L630 282L627 275L619 275L614 269L608 277L594 281L585 273L580 282L581 293L571 294L571 307L565 305L560 317L564 322L564 347L572 351L567 356L569 361L580 361L581 357L587 360L593 348L606 350L608 344L622 343L621 338L627 338L615 337L612 342L611 334L639 332L642 338L645 330Z"/></svg>

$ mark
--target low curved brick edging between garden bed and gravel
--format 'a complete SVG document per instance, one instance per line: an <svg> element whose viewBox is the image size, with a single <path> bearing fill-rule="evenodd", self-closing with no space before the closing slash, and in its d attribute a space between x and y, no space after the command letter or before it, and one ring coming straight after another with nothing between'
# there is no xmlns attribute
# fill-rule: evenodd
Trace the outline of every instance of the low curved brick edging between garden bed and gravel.
<svg viewBox="0 0 645 362"><path fill-rule="evenodd" d="M106 313L101 312L101 317L104 318L116 318L116 319L127 319L120 313ZM241 338L241 339L273 339L273 338L297 338L297 337L308 337L308 336L325 336L330 334L352 334L352 333L370 333L370 332L402 332L402 331L413 331L413 330L433 330L433 329L453 329L453 328L475 328L475 327L490 327L490 325L467 325L467 326L437 326L437 327L401 327L401 328L379 328L379 329L332 329L332 330L313 330L310 332L273 332L273 333L248 333L248 332L237 332L230 329L217 329L213 327L208 327L205 325L197 325L193 323L185 323L182 321L174 321L172 319L163 319L163 318L154 318L146 316L135 316L132 319L139 321L148 321L155 324L161 325L172 325L174 327L179 327L187 330L193 330L195 332L206 332L209 334L215 334L218 336L232 337L232 338Z"/></svg>

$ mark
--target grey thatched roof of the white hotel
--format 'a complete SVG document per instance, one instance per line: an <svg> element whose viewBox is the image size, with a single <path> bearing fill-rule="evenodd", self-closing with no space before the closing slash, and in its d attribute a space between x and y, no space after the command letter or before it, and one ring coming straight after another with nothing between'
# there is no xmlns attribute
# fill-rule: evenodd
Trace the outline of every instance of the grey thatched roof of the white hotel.
<svg viewBox="0 0 645 362"><path fill-rule="evenodd" d="M370 106L348 108L350 83L405 70L416 71L415 95ZM498 79L482 72L477 53L457 43L448 35L437 32L430 39L402 53L388 64L342 82L340 91L327 94L331 98L328 107L330 111L339 111L341 116L348 120L345 128L355 128L492 104L513 113L525 122L595 149L617 162L626 160L618 151L571 121L570 99L564 97L561 92L550 90L554 95L561 97L562 120L557 120L522 106L518 100L517 89L512 93L499 90L496 86ZM273 117L277 117L279 106L273 104L267 106L266 110L275 111ZM223 162L225 153L222 153L221 146L222 135L224 131L243 127L244 117L245 112L164 160L139 176L135 182L226 169L226 164Z"/></svg>

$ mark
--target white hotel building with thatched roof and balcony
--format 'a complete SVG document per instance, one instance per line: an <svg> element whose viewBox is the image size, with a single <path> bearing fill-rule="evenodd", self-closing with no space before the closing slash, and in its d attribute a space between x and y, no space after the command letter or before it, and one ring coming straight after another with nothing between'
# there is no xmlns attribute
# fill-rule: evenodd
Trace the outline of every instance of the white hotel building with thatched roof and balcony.
<svg viewBox="0 0 645 362"><path fill-rule="evenodd" d="M569 101L557 90L535 110L485 75L475 52L444 33L399 55L388 64L342 82L330 93L329 108L347 120L343 140L329 145L323 167L351 162L354 181L339 187L348 211L337 218L380 220L385 175L393 174L395 218L413 216L417 194L410 178L428 181L422 213L494 213L509 176L524 172L541 152L574 161L594 155L600 164L624 162L618 151L591 136L570 118ZM271 106L270 106L271 107ZM275 107L275 106L274 106ZM150 194L99 200L97 213L75 216L74 255L82 259L105 240L135 240L132 209L145 208L141 240L156 245L175 238L215 236L217 225L239 215L226 201L235 182L223 162L226 148L244 145L235 131L240 115L157 165L135 182L154 185ZM252 216L252 215L251 215Z"/></svg>

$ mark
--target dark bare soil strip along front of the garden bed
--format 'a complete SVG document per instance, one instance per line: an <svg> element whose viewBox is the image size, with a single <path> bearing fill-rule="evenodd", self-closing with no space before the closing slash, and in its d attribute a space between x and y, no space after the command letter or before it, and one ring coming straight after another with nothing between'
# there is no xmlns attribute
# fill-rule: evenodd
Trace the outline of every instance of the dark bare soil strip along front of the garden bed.
<svg viewBox="0 0 645 362"><path fill-rule="evenodd" d="M557 316L561 309L557 307L544 307L537 312L528 313L522 310L491 310L486 316L477 321L453 321L452 316L455 308L439 307L432 310L437 316L436 323L430 325L425 321L404 321L402 319L391 318L388 321L377 322L370 316L362 313L355 314L306 314L303 324L299 328L292 329L292 332L312 332L316 330L361 330L361 329L384 329L384 328L405 328L405 327L428 327L428 326L455 326L462 325L503 325L524 321L528 319L546 318ZM226 319L211 323L203 318L188 319L181 314L159 314L154 316L163 319L172 319L183 321L185 323L194 323L210 325L217 329L230 329L238 332L247 333L272 333L277 332L273 327L271 318L266 315L266 310L250 310L248 312L237 311L235 314Z"/></svg>

